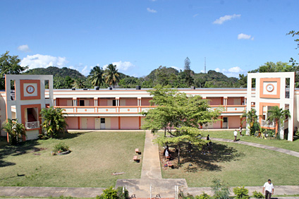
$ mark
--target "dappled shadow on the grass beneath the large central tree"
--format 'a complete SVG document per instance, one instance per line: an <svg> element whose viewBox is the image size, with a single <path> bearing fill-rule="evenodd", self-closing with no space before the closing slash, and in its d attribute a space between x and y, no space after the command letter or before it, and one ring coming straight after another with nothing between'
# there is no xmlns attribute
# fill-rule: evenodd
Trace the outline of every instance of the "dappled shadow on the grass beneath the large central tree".
<svg viewBox="0 0 299 199"><path fill-rule="evenodd" d="M171 156L177 158L176 152L171 152ZM206 150L197 150L193 147L193 150L188 152L188 147L183 147L181 152L181 163L189 163L189 166L185 168L188 172L197 172L198 170L207 171L221 171L222 167L216 163L219 162L231 162L244 157L243 152L238 152L233 147L221 143L213 143L212 153Z"/></svg>

